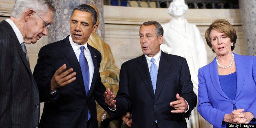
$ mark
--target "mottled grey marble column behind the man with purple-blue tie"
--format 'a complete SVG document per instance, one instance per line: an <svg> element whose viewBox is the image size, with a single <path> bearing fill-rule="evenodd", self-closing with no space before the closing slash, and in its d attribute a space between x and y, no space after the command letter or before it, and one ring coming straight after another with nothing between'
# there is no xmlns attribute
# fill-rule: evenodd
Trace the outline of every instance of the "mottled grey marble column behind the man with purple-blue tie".
<svg viewBox="0 0 256 128"><path fill-rule="evenodd" d="M70 35L69 18L75 7L80 4L93 4L99 10L100 24L97 30L98 35L105 39L104 18L103 18L103 0L52 0L56 11L54 13L53 23L48 30L48 44L63 40Z"/></svg>

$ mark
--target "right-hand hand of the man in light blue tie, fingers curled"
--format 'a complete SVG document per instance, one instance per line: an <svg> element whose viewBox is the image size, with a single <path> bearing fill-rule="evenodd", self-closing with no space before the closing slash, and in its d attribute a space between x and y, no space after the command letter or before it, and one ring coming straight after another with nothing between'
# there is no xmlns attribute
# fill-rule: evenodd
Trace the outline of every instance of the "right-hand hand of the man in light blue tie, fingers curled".
<svg viewBox="0 0 256 128"><path fill-rule="evenodd" d="M176 110L171 110L172 113L184 113L188 109L188 104L184 98L180 97L179 94L176 94L178 100L170 102L170 106L174 107Z"/></svg>

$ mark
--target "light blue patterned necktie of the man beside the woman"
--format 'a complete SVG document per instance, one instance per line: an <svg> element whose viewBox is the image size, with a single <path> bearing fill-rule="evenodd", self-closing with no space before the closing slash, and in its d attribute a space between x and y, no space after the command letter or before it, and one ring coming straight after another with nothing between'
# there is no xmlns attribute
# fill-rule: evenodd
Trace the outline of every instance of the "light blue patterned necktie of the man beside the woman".
<svg viewBox="0 0 256 128"><path fill-rule="evenodd" d="M157 70L157 65L154 63L154 58L151 58L150 62L152 62L150 66L150 77L151 77L154 93L156 93L158 70Z"/></svg>

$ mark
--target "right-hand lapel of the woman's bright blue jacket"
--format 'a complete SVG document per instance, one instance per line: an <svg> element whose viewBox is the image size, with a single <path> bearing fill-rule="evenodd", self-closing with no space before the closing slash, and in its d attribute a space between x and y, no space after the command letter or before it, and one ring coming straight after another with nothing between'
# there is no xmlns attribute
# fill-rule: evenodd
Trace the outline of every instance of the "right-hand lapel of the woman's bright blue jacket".
<svg viewBox="0 0 256 128"><path fill-rule="evenodd" d="M236 86L236 97L241 93L241 90L244 86L245 82L245 63L241 55L237 55L234 53L235 56L235 64L236 64L236 79L237 86Z"/></svg>

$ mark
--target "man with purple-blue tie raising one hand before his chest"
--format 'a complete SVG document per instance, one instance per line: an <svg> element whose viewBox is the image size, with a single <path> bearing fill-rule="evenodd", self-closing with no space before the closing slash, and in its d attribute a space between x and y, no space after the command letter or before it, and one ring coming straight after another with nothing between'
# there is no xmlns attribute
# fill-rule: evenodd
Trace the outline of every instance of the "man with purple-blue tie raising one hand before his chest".
<svg viewBox="0 0 256 128"><path fill-rule="evenodd" d="M71 35L42 47L38 54L33 75L44 102L40 127L98 128L95 100L109 109L99 74L102 56L87 43L98 27L97 12L81 4L69 21Z"/></svg>

